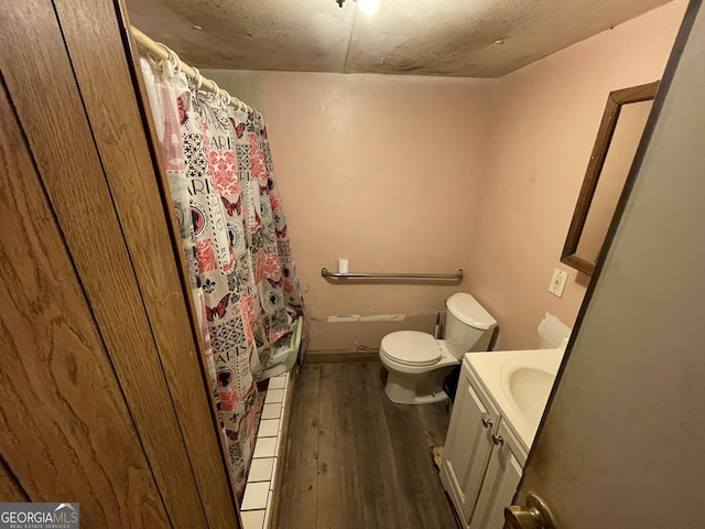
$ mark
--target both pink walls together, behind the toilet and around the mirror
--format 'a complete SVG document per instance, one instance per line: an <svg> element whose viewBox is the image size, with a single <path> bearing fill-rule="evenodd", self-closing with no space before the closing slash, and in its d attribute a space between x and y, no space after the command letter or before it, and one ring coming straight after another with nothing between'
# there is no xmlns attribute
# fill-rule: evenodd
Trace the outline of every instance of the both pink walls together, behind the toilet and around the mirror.
<svg viewBox="0 0 705 529"><path fill-rule="evenodd" d="M499 79L263 73L264 110L311 322L311 348L376 348L432 331L453 292L502 327L500 348L538 346L550 311L573 325L586 277L558 261L609 91L661 77L685 0ZM438 284L339 284L350 271L451 272ZM554 267L571 272L563 299ZM327 323L335 314L400 323Z"/></svg>

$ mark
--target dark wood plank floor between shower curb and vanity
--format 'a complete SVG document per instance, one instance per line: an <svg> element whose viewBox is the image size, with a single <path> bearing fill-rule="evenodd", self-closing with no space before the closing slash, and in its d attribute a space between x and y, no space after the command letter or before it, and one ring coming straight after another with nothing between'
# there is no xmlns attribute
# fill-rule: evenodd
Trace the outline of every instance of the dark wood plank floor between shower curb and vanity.
<svg viewBox="0 0 705 529"><path fill-rule="evenodd" d="M393 404L380 363L304 365L292 399L276 527L455 529L430 446L445 403Z"/></svg>

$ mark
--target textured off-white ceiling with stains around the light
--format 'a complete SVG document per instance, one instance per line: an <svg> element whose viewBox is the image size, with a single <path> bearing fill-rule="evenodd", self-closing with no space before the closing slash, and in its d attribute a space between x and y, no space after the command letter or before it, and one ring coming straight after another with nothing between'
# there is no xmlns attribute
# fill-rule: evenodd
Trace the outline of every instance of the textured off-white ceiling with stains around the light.
<svg viewBox="0 0 705 529"><path fill-rule="evenodd" d="M381 0L373 17L350 0L126 3L133 25L199 68L498 77L668 2Z"/></svg>

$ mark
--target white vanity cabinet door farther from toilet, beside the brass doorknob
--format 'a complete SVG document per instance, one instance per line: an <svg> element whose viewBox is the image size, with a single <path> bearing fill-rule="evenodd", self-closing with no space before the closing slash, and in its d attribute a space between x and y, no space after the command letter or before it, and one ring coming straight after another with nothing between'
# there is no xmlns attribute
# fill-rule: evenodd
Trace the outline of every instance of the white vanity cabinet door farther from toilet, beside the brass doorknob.
<svg viewBox="0 0 705 529"><path fill-rule="evenodd" d="M494 450L470 520L470 529L501 529L505 523L503 509L511 505L521 472L527 462L519 442L503 422L495 438Z"/></svg>

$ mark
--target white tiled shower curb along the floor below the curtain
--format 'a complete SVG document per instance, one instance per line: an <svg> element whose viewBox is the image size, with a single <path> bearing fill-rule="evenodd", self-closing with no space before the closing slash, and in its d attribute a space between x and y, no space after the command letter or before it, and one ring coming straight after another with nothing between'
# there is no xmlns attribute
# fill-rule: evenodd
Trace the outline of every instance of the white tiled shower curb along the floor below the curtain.
<svg viewBox="0 0 705 529"><path fill-rule="evenodd" d="M243 529L267 529L272 516L276 466L283 446L282 427L286 409L290 371L270 378L257 432L254 453L240 506Z"/></svg>

